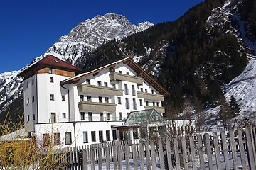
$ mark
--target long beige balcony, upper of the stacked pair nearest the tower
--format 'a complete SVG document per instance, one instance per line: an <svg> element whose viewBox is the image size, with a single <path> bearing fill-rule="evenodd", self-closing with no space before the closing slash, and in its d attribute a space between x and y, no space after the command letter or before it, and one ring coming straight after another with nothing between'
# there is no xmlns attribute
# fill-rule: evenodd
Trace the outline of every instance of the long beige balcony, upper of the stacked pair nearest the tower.
<svg viewBox="0 0 256 170"><path fill-rule="evenodd" d="M95 86L90 84L78 84L78 93L99 94L104 96L123 96L122 89L114 89L105 86Z"/></svg>

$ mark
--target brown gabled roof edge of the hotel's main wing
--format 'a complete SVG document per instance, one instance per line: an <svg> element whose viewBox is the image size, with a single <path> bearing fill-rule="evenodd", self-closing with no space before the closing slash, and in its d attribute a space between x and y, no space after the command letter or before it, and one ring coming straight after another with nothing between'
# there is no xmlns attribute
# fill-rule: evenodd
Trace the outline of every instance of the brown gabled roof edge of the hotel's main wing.
<svg viewBox="0 0 256 170"><path fill-rule="evenodd" d="M160 84L158 84L152 77L149 76L149 74L146 74L146 72L144 72L144 70L139 67L139 65L134 62L131 58L127 57L124 58L122 60L119 60L117 62L112 62L110 64L107 64L103 67L100 67L98 69L94 69L90 72L86 72L86 73L82 73L82 74L78 74L75 77L71 77L70 79L65 79L64 81L61 82L61 84L75 84L77 83L80 79L90 76L92 74L97 74L98 72L102 71L103 69L108 69L110 67L114 67L115 65L119 64L119 63L124 63L127 64L129 67L131 67L135 72L137 73L141 73L142 74L142 78L149 83L149 86L153 86L154 89L156 89L157 91L159 91L160 94L164 94L164 95L169 95L168 91L166 91Z"/></svg>

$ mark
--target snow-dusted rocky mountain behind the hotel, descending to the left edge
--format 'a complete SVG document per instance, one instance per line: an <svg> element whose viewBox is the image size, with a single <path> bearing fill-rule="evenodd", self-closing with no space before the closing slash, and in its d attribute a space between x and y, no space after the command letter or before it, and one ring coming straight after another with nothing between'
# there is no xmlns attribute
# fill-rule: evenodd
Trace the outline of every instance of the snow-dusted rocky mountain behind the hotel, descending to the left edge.
<svg viewBox="0 0 256 170"><path fill-rule="evenodd" d="M81 66L87 55L90 55L103 43L113 39L121 40L151 26L153 24L149 21L134 25L124 16L113 13L106 13L104 16L98 15L79 23L68 35L62 36L45 54L35 58L31 64L47 54L52 54L76 66ZM21 70L26 69L26 67ZM23 113L23 79L17 77L21 70L0 74L0 108L1 111L11 108L9 115L12 116L13 120L16 120L18 115L21 116ZM7 114L7 111L4 113ZM4 117L1 116L0 121L3 121Z"/></svg>

